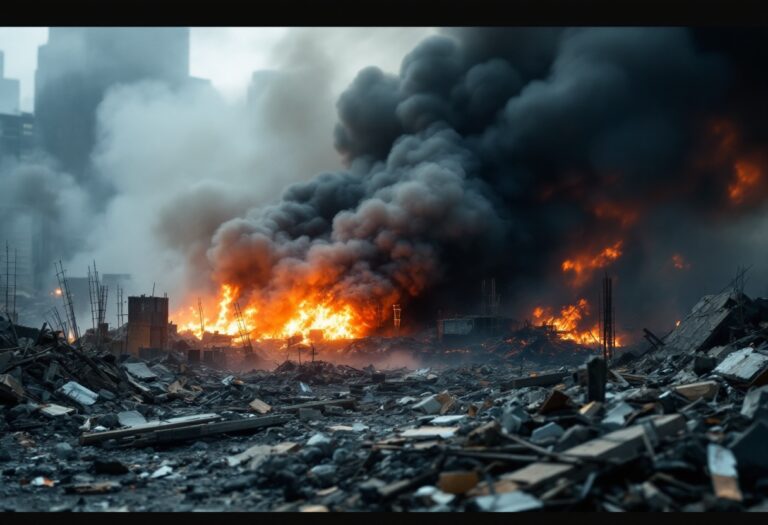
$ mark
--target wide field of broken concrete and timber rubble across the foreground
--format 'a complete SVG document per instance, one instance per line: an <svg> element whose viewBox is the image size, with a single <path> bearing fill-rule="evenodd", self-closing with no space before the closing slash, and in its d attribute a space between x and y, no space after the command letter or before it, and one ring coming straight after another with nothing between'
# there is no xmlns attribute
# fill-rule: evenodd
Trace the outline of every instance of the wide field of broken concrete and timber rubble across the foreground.
<svg viewBox="0 0 768 525"><path fill-rule="evenodd" d="M542 342L520 362L235 373L6 326L0 507L768 510L768 316L708 297L610 363Z"/></svg>

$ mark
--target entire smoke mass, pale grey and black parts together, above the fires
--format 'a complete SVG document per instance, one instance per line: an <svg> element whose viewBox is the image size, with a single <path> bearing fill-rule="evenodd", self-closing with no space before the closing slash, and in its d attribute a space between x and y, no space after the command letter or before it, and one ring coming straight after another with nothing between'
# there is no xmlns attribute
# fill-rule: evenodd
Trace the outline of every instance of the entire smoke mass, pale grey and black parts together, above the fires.
<svg viewBox="0 0 768 525"><path fill-rule="evenodd" d="M524 317L596 302L604 269L627 329L663 330L738 264L764 293L764 31L451 28L336 95L403 31L291 30L247 101L113 87L55 251L179 303L236 285L275 322L311 299L426 323L476 311L490 277Z"/></svg>

